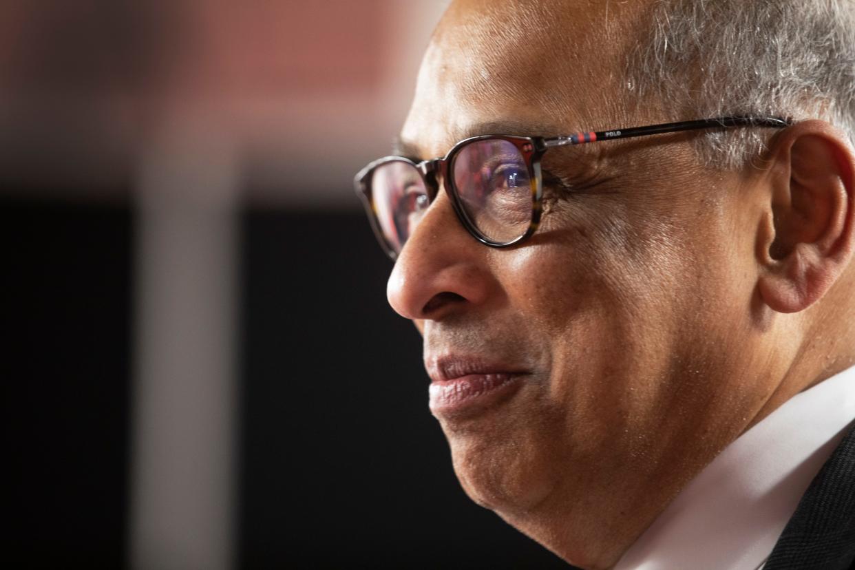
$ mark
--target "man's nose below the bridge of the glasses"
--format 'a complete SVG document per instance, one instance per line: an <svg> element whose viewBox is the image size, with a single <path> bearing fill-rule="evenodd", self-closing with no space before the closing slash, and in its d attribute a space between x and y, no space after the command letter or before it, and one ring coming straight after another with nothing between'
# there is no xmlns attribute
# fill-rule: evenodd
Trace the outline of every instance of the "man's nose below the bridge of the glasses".
<svg viewBox="0 0 855 570"><path fill-rule="evenodd" d="M389 304L407 319L440 320L484 303L493 286L489 249L469 235L439 192L398 255L386 285Z"/></svg>

